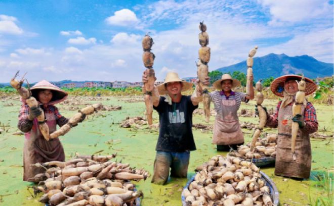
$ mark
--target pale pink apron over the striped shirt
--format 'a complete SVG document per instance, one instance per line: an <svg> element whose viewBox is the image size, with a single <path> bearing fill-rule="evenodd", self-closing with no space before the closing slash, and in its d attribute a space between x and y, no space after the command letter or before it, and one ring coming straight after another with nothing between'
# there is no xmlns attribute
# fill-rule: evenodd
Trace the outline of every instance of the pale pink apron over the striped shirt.
<svg viewBox="0 0 334 206"><path fill-rule="evenodd" d="M243 134L237 115L239 108L235 95L230 95L228 99L225 95L220 95L220 98L220 107L214 125L213 143L217 145L243 143Z"/></svg>

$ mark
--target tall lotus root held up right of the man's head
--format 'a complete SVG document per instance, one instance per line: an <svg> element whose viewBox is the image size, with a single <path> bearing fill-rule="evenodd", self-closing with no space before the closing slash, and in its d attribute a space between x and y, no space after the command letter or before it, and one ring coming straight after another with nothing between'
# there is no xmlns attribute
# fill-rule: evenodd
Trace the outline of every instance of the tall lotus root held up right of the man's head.
<svg viewBox="0 0 334 206"><path fill-rule="evenodd" d="M201 47L198 50L199 60L196 63L197 65L197 77L198 77L198 86L203 91L203 108L205 122L208 122L210 119L210 96L208 94L208 87L203 85L202 82L208 77L208 66L207 63L210 61L211 49L207 46L208 44L208 34L206 33L206 25L203 22L199 22L199 30L201 31L198 34L199 44Z"/></svg>

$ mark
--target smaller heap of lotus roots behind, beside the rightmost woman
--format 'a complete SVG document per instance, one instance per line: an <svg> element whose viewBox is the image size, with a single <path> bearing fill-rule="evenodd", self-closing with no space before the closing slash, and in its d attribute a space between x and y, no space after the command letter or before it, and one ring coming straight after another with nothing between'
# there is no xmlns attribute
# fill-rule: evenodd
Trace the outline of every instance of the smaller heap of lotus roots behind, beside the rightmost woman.
<svg viewBox="0 0 334 206"><path fill-rule="evenodd" d="M276 141L277 134L267 134L266 137L257 140L253 151L251 149L251 142L249 142L247 145L239 146L238 151L230 152L229 156L241 159L276 158Z"/></svg>

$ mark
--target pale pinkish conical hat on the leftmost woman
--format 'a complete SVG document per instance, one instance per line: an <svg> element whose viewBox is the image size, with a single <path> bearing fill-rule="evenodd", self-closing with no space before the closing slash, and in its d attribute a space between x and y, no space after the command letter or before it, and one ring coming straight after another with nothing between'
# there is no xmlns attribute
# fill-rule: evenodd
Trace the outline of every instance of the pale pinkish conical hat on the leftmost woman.
<svg viewBox="0 0 334 206"><path fill-rule="evenodd" d="M67 98L68 93L56 85L51 84L47 80L41 80L40 82L33 85L31 90L31 95L37 99L38 91L40 89L50 89L52 91L52 99L50 100L50 104L55 104L60 101L63 101Z"/></svg>

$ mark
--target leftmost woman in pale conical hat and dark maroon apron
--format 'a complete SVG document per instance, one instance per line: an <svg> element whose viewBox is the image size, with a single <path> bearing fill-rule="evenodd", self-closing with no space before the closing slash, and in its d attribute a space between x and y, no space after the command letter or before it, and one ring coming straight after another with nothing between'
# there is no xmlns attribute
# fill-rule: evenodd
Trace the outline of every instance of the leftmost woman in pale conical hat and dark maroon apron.
<svg viewBox="0 0 334 206"><path fill-rule="evenodd" d="M23 180L25 181L33 181L29 178L45 172L43 168L30 165L49 161L65 161L64 149L58 137L47 141L39 131L36 117L41 114L41 110L45 113L50 133L56 130L57 125L61 127L68 122L68 119L63 117L54 106L66 99L67 92L46 80L38 82L30 90L32 96L39 102L39 106L29 108L22 99L23 104L18 122L18 128L24 132L25 136L23 149Z"/></svg>

